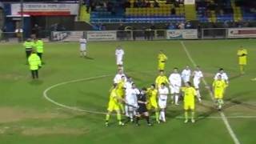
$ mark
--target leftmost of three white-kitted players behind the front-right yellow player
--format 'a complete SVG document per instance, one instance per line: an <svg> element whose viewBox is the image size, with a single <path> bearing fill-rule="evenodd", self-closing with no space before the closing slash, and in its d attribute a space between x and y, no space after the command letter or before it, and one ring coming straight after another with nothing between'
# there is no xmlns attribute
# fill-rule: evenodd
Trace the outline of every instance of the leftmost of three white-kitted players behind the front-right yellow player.
<svg viewBox="0 0 256 144"><path fill-rule="evenodd" d="M175 102L175 105L178 105L179 92L182 86L182 77L181 74L178 74L178 68L175 67L174 72L170 74L169 82L171 99Z"/></svg>

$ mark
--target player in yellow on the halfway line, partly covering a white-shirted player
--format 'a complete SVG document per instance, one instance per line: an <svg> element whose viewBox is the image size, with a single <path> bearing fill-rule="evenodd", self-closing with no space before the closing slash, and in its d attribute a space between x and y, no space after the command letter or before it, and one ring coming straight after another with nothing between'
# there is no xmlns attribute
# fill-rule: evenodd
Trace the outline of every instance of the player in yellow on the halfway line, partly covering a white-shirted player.
<svg viewBox="0 0 256 144"><path fill-rule="evenodd" d="M224 95L226 86L227 86L226 82L222 80L222 75L218 75L218 78L214 80L214 83L213 83L214 98L218 106L218 110L222 110L222 105L224 104L223 95Z"/></svg>

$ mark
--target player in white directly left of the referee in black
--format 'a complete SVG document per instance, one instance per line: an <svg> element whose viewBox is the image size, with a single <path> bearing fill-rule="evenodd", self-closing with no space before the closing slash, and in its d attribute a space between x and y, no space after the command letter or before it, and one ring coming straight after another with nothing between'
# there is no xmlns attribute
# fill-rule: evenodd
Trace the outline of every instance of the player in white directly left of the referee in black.
<svg viewBox="0 0 256 144"><path fill-rule="evenodd" d="M130 89L126 89L126 116L130 119L130 122L134 121L134 115L136 114L136 108L138 107L138 94L140 94L140 92L136 88L135 83L132 83Z"/></svg>

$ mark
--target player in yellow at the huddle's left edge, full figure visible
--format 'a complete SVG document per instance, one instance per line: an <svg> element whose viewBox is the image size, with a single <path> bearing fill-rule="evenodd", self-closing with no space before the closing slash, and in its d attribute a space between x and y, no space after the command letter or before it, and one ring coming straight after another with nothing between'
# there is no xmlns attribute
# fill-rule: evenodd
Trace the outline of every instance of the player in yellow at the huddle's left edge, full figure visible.
<svg viewBox="0 0 256 144"><path fill-rule="evenodd" d="M109 126L110 114L113 112L113 110L115 110L117 113L118 125L119 126L124 125L124 123L122 122L122 119L121 119L121 113L120 113L120 107L119 107L119 102L124 101L124 100L122 98L118 97L117 89L118 89L118 85L114 84L113 88L110 92L110 101L108 104L107 114L106 114L106 123L105 123L106 126Z"/></svg>

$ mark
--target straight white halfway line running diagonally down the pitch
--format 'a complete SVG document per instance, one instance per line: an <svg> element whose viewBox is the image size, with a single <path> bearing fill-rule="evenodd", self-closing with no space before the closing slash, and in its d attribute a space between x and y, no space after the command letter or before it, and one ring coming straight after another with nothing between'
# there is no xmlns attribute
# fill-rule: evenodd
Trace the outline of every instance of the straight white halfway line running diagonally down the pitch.
<svg viewBox="0 0 256 144"><path fill-rule="evenodd" d="M196 63L194 62L194 59L191 57L190 52L186 49L184 42L181 41L181 44L182 44L183 50L185 50L185 52L186 52L187 57L190 59L190 62L192 62L192 64L194 66L197 66ZM202 82L205 84L205 86L208 86L205 78L202 78ZM208 90L209 90L210 97L214 102L214 94L210 89L208 89ZM222 121L225 123L226 129L229 131L231 138L233 138L234 143L240 144L238 137L234 134L234 130L232 130L230 123L226 119L226 115L222 111L220 111L219 114L221 115Z"/></svg>

